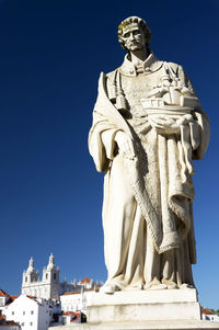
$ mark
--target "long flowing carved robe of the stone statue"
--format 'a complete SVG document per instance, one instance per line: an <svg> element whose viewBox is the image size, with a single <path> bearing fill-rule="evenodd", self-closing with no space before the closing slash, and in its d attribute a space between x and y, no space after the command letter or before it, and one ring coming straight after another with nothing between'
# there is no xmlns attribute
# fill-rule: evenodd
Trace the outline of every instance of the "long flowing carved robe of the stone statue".
<svg viewBox="0 0 219 330"><path fill-rule="evenodd" d="M192 89L182 67L170 66ZM128 114L119 113L111 102L115 71L106 77L101 73L89 135L90 153L97 171L104 171L106 284L117 289L150 288L158 283L194 285L192 159L201 159L207 149L208 117L197 110L181 125L181 134L158 134L140 99L160 81L163 62L150 55L143 73L137 75L126 57L117 72ZM135 157L118 149L115 135L119 130L129 136Z"/></svg>

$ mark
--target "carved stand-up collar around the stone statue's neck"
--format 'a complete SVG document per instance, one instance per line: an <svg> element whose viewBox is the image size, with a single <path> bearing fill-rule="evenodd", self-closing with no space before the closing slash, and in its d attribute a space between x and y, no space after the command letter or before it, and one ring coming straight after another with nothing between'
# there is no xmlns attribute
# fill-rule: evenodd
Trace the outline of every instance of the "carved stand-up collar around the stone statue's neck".
<svg viewBox="0 0 219 330"><path fill-rule="evenodd" d="M162 60L159 60L153 53L151 53L147 59L143 61L142 66L136 67L128 59L128 55L126 54L123 65L118 68L119 72L124 76L135 77L139 72L143 75L150 75L161 68L163 65Z"/></svg>

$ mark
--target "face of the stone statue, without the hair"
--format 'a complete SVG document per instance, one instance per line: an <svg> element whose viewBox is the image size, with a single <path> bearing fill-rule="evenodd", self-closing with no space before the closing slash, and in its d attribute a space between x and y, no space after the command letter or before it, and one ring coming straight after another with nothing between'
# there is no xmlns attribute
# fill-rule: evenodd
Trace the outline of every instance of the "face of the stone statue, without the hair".
<svg viewBox="0 0 219 330"><path fill-rule="evenodd" d="M142 49L146 47L146 37L143 31L137 24L128 25L126 29L123 29L124 46L130 52L137 49Z"/></svg>

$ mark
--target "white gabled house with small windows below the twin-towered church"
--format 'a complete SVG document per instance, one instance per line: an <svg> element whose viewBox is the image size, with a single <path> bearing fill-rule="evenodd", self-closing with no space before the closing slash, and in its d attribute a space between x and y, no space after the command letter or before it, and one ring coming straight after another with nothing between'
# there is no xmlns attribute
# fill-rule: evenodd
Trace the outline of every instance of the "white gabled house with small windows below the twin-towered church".
<svg viewBox="0 0 219 330"><path fill-rule="evenodd" d="M18 322L22 330L47 330L53 319L53 307L44 299L21 295L7 306L3 314L7 321Z"/></svg>

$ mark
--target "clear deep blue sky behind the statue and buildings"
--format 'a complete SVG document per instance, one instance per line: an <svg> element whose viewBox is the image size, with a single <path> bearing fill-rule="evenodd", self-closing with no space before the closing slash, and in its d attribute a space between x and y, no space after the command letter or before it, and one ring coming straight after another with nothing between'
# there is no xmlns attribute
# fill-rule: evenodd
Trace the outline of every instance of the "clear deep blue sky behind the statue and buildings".
<svg viewBox="0 0 219 330"><path fill-rule="evenodd" d="M30 257L42 272L50 252L61 278L106 278L103 175L87 140L99 75L125 55L117 25L139 15L155 55L183 65L211 121L195 162L194 277L200 303L219 308L218 12L218 0L0 0L1 288L19 294Z"/></svg>

